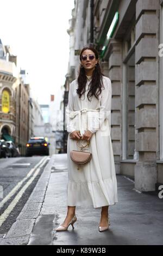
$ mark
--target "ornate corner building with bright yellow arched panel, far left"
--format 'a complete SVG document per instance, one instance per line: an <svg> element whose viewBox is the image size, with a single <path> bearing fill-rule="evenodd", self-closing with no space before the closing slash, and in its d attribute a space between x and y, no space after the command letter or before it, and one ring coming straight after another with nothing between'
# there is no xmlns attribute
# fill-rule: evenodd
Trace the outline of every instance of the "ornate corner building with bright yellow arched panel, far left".
<svg viewBox="0 0 163 256"><path fill-rule="evenodd" d="M0 139L15 140L16 94L13 89L17 80L15 56L9 47L1 44L0 56Z"/></svg>

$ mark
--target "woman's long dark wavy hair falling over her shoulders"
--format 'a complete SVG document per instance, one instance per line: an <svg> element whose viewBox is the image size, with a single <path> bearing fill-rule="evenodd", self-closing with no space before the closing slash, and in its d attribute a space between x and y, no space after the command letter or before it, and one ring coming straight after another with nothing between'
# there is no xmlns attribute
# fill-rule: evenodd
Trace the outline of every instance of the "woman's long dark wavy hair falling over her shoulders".
<svg viewBox="0 0 163 256"><path fill-rule="evenodd" d="M98 56L98 52L95 50L95 48L84 47L82 49L82 51L80 52L80 62L82 60L81 59L82 53L85 50L91 50L92 52L94 52L96 60L98 60L99 56ZM89 97L91 97L93 95L95 95L95 97L98 99L98 95L101 94L101 92L102 92L101 88L103 85L102 76L104 76L104 75L101 72L99 63L97 63L95 69L93 70L92 81L90 83L90 90L87 93L88 100L90 100ZM78 89L77 89L77 94L79 94L79 98L82 97L83 94L85 94L86 82L87 82L87 77L86 77L85 69L82 68L82 65L80 64L79 76L78 76ZM97 92L97 90L98 90L98 92Z"/></svg>

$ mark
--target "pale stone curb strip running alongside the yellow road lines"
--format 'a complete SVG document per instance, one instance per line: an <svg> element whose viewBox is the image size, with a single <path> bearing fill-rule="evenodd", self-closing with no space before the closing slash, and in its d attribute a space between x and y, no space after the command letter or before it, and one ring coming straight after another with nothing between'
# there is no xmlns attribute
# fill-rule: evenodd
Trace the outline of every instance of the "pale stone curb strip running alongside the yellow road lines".
<svg viewBox="0 0 163 256"><path fill-rule="evenodd" d="M54 163L54 155L46 164L40 179L30 194L28 201L24 205L22 211L12 224L7 235L0 241L0 245L27 245L30 234L32 233L36 219L39 217L43 201L45 198L51 169Z"/></svg>

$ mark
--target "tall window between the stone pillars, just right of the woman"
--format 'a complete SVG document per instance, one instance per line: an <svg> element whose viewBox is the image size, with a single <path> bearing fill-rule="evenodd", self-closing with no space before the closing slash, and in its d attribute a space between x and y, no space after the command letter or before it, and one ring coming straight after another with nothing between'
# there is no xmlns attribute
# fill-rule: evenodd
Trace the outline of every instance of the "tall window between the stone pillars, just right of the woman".
<svg viewBox="0 0 163 256"><path fill-rule="evenodd" d="M122 160L137 160L135 150L135 20L123 40Z"/></svg>

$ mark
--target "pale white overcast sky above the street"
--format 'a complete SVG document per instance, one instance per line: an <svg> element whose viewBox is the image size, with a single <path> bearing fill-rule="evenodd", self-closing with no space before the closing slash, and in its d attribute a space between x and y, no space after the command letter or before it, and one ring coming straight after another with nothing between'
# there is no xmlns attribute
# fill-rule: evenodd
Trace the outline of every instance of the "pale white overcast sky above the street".
<svg viewBox="0 0 163 256"><path fill-rule="evenodd" d="M26 69L39 103L49 103L65 82L74 0L0 0L0 38Z"/></svg>

